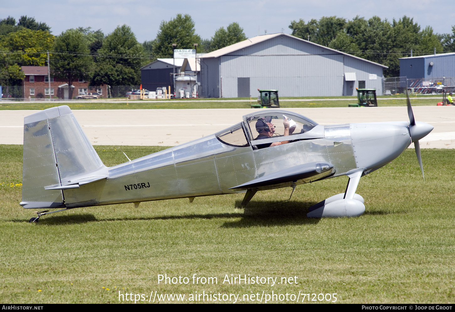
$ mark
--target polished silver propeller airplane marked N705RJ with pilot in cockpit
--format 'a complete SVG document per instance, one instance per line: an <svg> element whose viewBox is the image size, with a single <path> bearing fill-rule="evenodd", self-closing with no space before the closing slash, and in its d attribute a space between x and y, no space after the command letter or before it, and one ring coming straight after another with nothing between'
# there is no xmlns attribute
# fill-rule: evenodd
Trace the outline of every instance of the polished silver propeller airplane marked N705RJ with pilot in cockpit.
<svg viewBox="0 0 455 312"><path fill-rule="evenodd" d="M365 211L364 199L355 193L360 177L397 158L411 142L424 173L419 139L433 127L415 122L409 97L408 115L409 122L323 126L297 113L261 110L215 134L106 167L71 109L52 107L24 118L20 205L45 209L30 222L77 207L134 203L137 208L142 201L188 197L192 202L232 193L245 193L245 206L260 190L294 190L347 175L346 191L309 207L307 216L359 216Z"/></svg>

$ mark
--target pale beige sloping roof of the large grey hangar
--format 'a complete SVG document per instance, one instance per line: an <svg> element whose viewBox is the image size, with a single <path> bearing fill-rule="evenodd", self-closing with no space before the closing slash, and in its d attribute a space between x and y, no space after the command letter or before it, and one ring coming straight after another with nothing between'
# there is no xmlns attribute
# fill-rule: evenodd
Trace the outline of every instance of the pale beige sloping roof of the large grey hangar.
<svg viewBox="0 0 455 312"><path fill-rule="evenodd" d="M201 58L220 57L220 56L232 53L234 51L238 51L240 49L246 48L248 46L253 46L253 45L255 45L255 44L259 43L259 42L267 41L269 39L272 39L272 38L275 38L275 37L278 37L278 36L288 36L288 37L293 38L295 40L300 40L300 41L303 41L303 42L306 42L306 43L309 43L309 44L312 44L312 45L315 45L315 46L323 47L324 49L327 49L329 51L334 51L334 52L337 52L339 54L350 56L350 57L353 57L353 58L361 60L361 61L365 61L365 62L369 62L369 63L374 64L374 65L381 66L383 68L389 68L388 66L385 66L385 65L373 62L373 61L368 61L368 60L365 60L364 58L361 58L361 57L358 57L358 56L354 56L354 55L351 55L349 53L341 52L341 51L338 51L338 50L335 50L335 49L331 49L331 48L328 48L326 46L321 46L321 45L319 45L317 43L314 43L314 42L311 42L311 41L307 41L307 40L303 40L303 39L300 39L300 38L297 38L297 37L294 37L294 36L291 36L291 35L288 35L288 34L285 34L285 33L281 33L281 32L277 33L277 34L262 35L262 36L256 36L256 37L253 37L253 38L248 38L247 40L240 41L240 42L234 43L233 45L225 46L224 48L221 48L221 49L218 49L216 51L212 51L210 53L207 53L207 54L201 56Z"/></svg>

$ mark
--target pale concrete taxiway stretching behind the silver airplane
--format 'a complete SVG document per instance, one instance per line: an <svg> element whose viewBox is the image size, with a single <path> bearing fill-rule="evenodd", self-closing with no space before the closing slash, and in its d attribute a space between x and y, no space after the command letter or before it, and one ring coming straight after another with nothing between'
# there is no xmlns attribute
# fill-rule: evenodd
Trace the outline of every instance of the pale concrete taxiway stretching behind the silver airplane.
<svg viewBox="0 0 455 312"><path fill-rule="evenodd" d="M406 107L285 110L323 125L409 120ZM258 109L119 109L73 113L93 145L175 146L239 123L243 115L254 111ZM416 121L435 127L420 140L421 148L455 148L455 106L416 106L413 111ZM22 144L24 117L35 112L38 111L0 111L0 144Z"/></svg>

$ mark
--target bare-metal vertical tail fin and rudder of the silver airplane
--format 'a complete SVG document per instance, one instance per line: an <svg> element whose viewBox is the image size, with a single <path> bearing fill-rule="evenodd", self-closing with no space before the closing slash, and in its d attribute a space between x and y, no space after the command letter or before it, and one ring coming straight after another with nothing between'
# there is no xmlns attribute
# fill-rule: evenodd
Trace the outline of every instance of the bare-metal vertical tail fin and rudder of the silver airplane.
<svg viewBox="0 0 455 312"><path fill-rule="evenodd" d="M24 118L22 207L65 208L63 189L79 187L78 180L95 176L107 176L106 167L70 107L52 107Z"/></svg>

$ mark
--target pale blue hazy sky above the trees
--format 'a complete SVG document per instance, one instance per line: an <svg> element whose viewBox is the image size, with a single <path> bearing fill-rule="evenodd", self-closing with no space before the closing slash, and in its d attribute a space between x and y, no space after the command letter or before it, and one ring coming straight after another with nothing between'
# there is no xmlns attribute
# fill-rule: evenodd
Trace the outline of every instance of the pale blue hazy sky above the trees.
<svg viewBox="0 0 455 312"><path fill-rule="evenodd" d="M54 35L68 28L91 26L110 33L117 25L131 26L137 40L143 42L156 37L162 20L170 20L177 13L189 14L195 22L196 33L209 39L215 31L238 22L247 37L285 32L290 34L290 22L308 21L322 16L340 16L348 20L356 15L370 18L399 19L414 17L424 28L432 26L437 33L451 32L455 25L455 1L434 0L20 0L0 1L0 18L11 15L33 16L51 26Z"/></svg>

